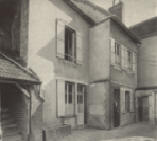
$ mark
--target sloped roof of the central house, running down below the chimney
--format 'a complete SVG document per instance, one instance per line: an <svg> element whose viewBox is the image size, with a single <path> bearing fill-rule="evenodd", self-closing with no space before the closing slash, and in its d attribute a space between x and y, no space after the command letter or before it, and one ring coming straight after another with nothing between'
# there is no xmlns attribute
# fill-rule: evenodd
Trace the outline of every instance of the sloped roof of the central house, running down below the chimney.
<svg viewBox="0 0 157 141"><path fill-rule="evenodd" d="M140 43L140 39L132 33L115 15L109 11L94 5L88 0L64 0L73 10L81 15L89 25L95 26L102 24L106 20L113 20L119 27L136 43Z"/></svg>

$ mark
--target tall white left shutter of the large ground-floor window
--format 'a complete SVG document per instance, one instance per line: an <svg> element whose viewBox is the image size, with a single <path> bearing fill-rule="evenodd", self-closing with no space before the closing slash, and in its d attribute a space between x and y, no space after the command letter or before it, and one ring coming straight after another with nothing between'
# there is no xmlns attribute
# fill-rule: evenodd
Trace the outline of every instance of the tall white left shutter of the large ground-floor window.
<svg viewBox="0 0 157 141"><path fill-rule="evenodd" d="M57 80L57 113L58 117L65 116L65 81Z"/></svg>

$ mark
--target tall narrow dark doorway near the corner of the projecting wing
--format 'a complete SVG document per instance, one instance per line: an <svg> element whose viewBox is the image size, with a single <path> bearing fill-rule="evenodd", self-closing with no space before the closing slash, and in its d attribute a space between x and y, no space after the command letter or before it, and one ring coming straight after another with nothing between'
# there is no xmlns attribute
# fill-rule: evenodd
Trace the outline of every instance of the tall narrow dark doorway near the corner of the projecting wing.
<svg viewBox="0 0 157 141"><path fill-rule="evenodd" d="M120 125L120 89L114 90L114 127Z"/></svg>

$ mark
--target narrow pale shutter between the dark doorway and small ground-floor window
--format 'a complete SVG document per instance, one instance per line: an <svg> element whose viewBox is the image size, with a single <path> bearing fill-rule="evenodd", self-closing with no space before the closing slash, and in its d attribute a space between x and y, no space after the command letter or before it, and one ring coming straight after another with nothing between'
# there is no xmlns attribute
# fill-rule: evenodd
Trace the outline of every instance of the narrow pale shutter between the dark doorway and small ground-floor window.
<svg viewBox="0 0 157 141"><path fill-rule="evenodd" d="M125 89L120 88L121 113L125 113Z"/></svg>

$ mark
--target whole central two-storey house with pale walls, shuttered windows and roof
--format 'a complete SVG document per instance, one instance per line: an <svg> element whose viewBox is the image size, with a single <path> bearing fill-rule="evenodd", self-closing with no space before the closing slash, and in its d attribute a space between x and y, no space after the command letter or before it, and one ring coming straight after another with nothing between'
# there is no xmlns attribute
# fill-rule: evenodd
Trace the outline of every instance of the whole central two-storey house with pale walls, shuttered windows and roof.
<svg viewBox="0 0 157 141"><path fill-rule="evenodd" d="M134 122L138 38L88 1L29 3L28 66L42 81L43 138Z"/></svg>

